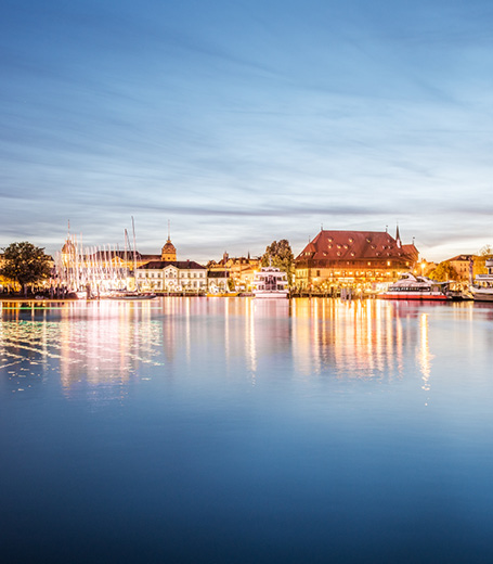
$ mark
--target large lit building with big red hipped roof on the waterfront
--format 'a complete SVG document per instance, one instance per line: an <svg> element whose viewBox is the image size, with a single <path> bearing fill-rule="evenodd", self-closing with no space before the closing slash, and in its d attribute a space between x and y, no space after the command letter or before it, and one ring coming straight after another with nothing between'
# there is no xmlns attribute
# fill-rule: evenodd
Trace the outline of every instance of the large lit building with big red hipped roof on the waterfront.
<svg viewBox="0 0 493 564"><path fill-rule="evenodd" d="M301 287L330 283L367 284L397 280L418 259L414 244L403 245L387 231L321 231L296 258Z"/></svg>

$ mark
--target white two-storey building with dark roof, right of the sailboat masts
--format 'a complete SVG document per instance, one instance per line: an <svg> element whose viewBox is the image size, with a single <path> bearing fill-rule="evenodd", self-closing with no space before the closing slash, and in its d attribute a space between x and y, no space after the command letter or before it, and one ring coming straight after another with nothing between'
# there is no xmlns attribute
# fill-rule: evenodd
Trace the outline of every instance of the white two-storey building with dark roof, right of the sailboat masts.
<svg viewBox="0 0 493 564"><path fill-rule="evenodd" d="M193 260L153 260L137 269L140 290L199 292L207 290L207 269Z"/></svg>

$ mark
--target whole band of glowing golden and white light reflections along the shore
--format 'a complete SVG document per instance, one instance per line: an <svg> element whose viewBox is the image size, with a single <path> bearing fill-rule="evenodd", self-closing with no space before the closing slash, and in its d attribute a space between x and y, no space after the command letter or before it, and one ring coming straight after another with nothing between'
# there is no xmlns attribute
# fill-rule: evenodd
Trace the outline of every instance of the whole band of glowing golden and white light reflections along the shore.
<svg viewBox="0 0 493 564"><path fill-rule="evenodd" d="M380 300L165 298L147 303L22 304L2 308L0 370L12 389L27 375L60 375L75 388L119 388L132 377L183 370L233 375L284 367L286 377L401 381L413 374L430 390L432 307ZM449 308L472 322L471 305ZM491 315L491 310L485 311ZM30 384L33 385L33 384Z"/></svg>

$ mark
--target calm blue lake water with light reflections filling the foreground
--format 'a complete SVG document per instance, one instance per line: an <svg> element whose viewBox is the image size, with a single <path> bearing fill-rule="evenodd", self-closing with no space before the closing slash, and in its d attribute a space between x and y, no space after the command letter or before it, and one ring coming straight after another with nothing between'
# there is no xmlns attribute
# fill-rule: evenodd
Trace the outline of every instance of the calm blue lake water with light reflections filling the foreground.
<svg viewBox="0 0 493 564"><path fill-rule="evenodd" d="M3 562L493 562L492 305L20 306Z"/></svg>

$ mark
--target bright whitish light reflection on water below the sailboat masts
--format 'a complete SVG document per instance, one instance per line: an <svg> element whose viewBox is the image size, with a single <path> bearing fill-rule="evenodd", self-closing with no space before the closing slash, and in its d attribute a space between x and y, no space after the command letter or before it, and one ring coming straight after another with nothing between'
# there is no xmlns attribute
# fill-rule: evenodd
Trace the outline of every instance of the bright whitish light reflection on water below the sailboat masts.
<svg viewBox="0 0 493 564"><path fill-rule="evenodd" d="M34 376L59 374L67 397L80 386L88 393L109 386L108 394L117 397L115 386L124 389L142 367L161 364L161 326L148 305L11 306L2 313L0 370L11 369L14 388L30 370Z"/></svg>

